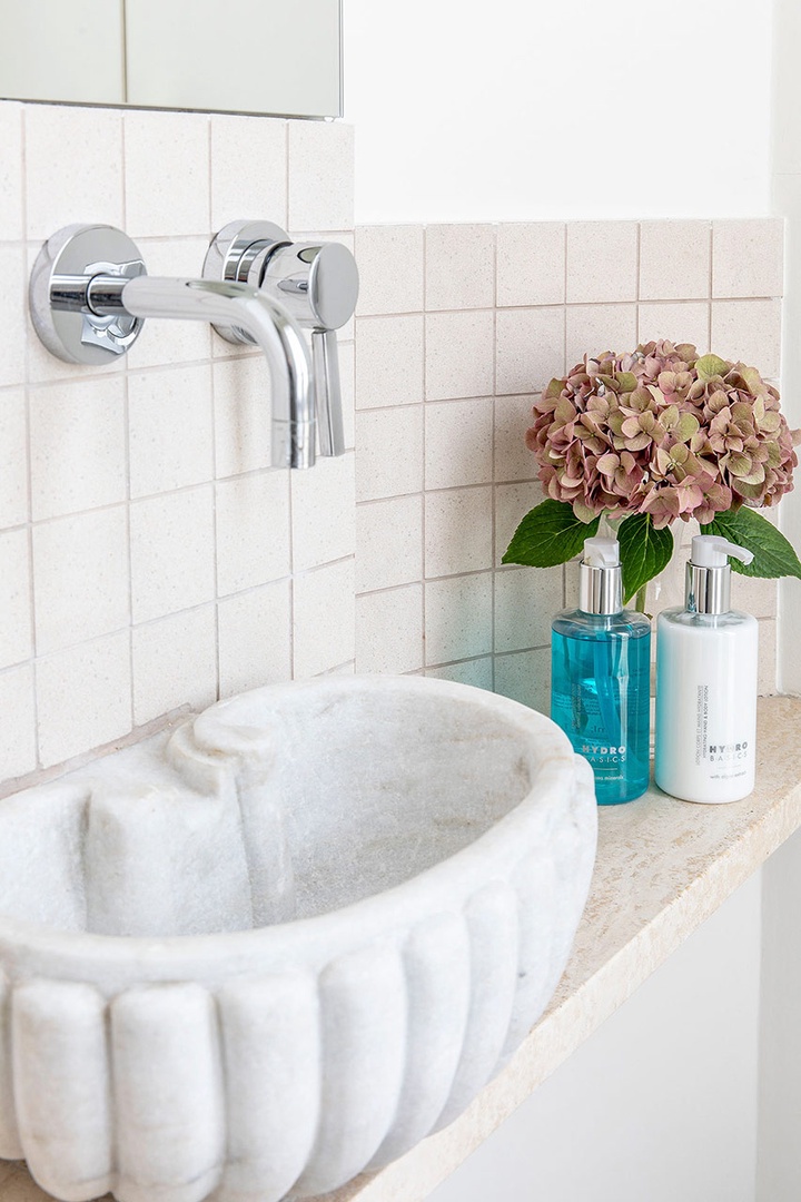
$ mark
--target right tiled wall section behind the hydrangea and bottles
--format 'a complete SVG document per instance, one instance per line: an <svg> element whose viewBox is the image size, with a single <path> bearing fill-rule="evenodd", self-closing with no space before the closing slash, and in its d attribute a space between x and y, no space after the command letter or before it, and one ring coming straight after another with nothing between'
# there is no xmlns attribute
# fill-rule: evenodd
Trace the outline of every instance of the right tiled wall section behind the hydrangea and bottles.
<svg viewBox="0 0 801 1202"><path fill-rule="evenodd" d="M357 228L357 671L548 708L550 618L575 565L503 567L542 499L536 394L585 351L670 338L779 373L782 222ZM676 535L688 546L689 526ZM653 607L679 603L676 558ZM776 587L735 582L775 686Z"/></svg>

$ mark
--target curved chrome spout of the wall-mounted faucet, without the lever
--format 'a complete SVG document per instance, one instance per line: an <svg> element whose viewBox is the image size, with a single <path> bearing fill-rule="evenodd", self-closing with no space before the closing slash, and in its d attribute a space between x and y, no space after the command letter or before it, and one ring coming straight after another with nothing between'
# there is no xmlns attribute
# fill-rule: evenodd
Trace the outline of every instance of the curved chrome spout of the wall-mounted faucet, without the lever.
<svg viewBox="0 0 801 1202"><path fill-rule="evenodd" d="M116 294L114 294L116 293ZM250 284L95 276L88 300L100 316L177 317L239 326L261 346L273 379L273 466L315 463L315 399L311 363L300 327L273 297Z"/></svg>

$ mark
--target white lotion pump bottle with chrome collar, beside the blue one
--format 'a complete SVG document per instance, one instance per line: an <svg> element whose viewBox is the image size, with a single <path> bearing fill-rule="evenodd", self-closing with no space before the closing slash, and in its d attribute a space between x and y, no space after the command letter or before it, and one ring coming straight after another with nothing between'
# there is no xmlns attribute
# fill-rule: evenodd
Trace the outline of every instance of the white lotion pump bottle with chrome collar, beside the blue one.
<svg viewBox="0 0 801 1202"><path fill-rule="evenodd" d="M697 535L685 608L657 621L656 781L687 802L739 802L754 787L758 625L730 607L729 555L754 558Z"/></svg>

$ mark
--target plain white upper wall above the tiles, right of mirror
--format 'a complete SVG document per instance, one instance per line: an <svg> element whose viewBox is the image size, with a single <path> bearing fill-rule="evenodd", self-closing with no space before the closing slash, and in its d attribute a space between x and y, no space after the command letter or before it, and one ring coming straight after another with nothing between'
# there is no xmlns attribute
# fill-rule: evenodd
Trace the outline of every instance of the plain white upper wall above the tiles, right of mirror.
<svg viewBox="0 0 801 1202"><path fill-rule="evenodd" d="M357 222L759 216L767 0L345 0Z"/></svg>

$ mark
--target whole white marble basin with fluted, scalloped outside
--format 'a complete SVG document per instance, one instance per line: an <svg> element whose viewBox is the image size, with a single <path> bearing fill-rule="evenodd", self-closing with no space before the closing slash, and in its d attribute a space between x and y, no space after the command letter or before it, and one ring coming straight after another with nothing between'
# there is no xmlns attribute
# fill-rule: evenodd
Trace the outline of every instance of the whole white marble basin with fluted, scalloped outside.
<svg viewBox="0 0 801 1202"><path fill-rule="evenodd" d="M592 774L464 685L257 689L0 802L0 1156L275 1202L453 1120L548 1004Z"/></svg>

